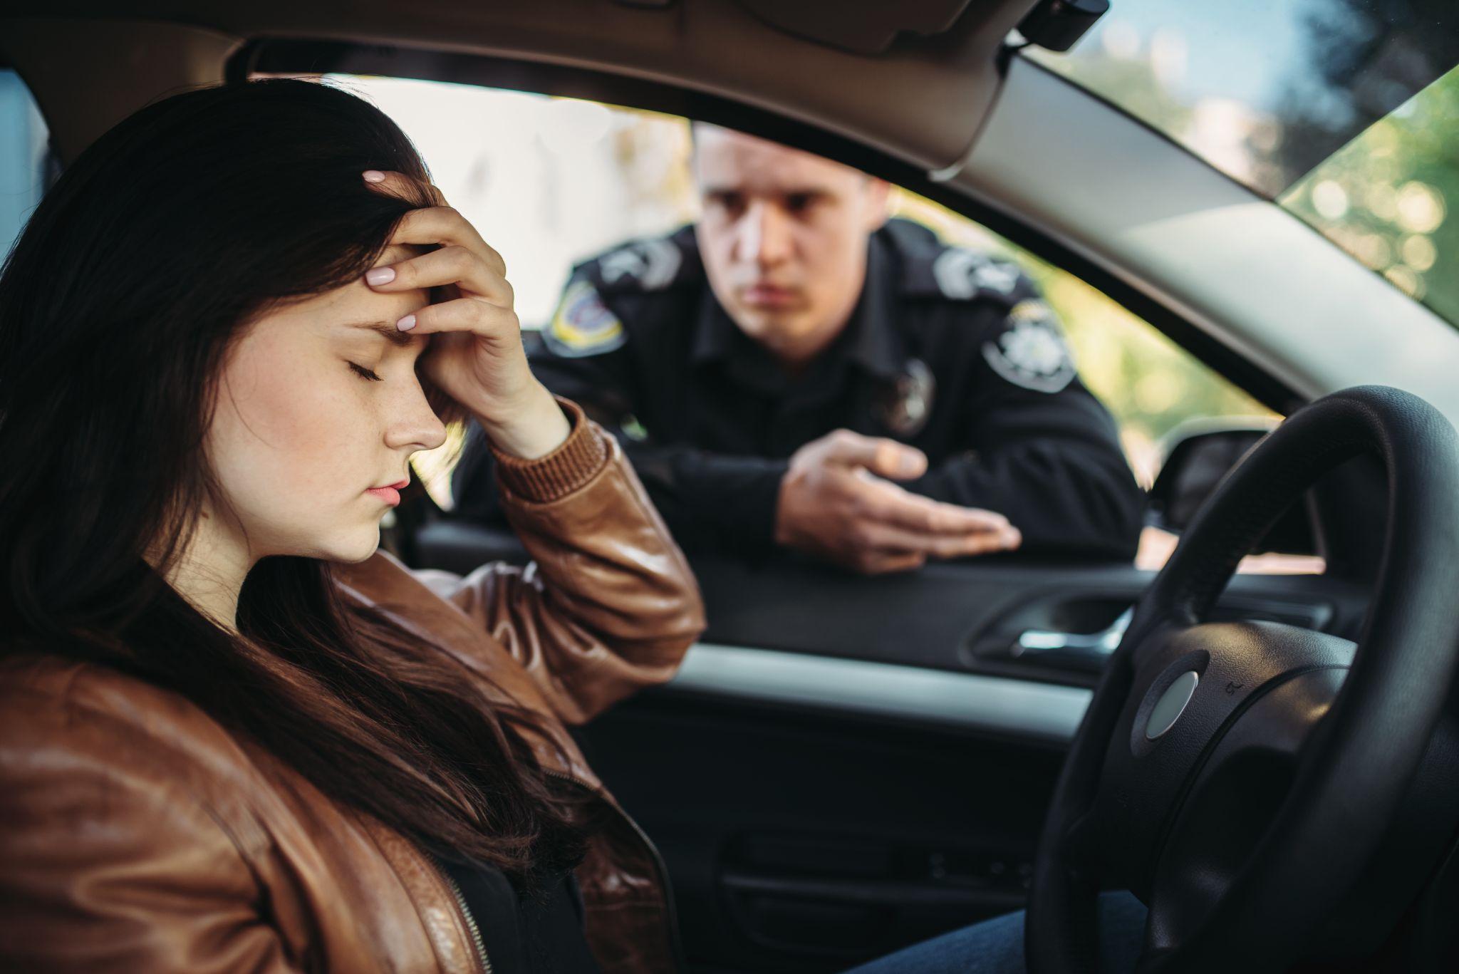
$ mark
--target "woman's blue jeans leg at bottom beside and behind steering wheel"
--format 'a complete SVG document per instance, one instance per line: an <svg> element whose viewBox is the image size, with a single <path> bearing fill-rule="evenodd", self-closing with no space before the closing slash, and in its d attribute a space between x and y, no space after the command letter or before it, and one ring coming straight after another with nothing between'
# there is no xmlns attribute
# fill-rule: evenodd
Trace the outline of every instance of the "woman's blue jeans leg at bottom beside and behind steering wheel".
<svg viewBox="0 0 1459 974"><path fill-rule="evenodd" d="M1099 970L1134 971L1144 939L1144 904L1128 892L1100 894ZM1024 974L1023 911L915 943L846 974Z"/></svg>

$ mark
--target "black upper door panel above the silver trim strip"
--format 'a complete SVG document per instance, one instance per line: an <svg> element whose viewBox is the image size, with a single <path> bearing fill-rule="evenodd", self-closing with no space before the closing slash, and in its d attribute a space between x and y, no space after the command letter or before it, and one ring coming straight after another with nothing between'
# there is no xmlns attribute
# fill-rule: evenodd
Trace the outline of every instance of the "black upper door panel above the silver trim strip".
<svg viewBox="0 0 1459 974"><path fill-rule="evenodd" d="M436 520L416 532L413 556L422 565L467 572L483 561L524 561L527 553L505 529ZM1097 670L1010 667L1007 650L1029 629L1104 629L1156 577L1129 564L1040 564L1017 556L934 562L877 577L792 559L753 565L693 555L690 561L705 594L706 643L1077 686L1093 686ZM1212 618L1266 619L1355 638L1366 605L1364 583L1237 574Z"/></svg>

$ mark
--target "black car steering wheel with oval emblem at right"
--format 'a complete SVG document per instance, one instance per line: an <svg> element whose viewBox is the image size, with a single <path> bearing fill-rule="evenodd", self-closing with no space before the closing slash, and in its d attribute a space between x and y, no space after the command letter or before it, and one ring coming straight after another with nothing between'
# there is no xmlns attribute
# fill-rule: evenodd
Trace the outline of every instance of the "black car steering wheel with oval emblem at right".
<svg viewBox="0 0 1459 974"><path fill-rule="evenodd" d="M1388 473L1354 645L1205 622L1237 561L1320 475ZM1139 974L1284 970L1379 848L1459 664L1459 434L1396 388L1293 413L1207 499L1135 607L1055 787L1024 927L1033 974L1097 970L1096 900L1150 908Z"/></svg>

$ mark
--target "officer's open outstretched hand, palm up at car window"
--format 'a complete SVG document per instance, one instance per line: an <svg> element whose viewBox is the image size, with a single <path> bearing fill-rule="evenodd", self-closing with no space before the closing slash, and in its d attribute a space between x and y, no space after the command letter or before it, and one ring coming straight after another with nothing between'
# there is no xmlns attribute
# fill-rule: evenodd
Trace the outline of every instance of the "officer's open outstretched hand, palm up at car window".
<svg viewBox="0 0 1459 974"><path fill-rule="evenodd" d="M928 558L1011 551L1023 540L1002 514L891 483L925 472L926 456L896 440L849 429L813 440L781 480L775 540L868 575L918 568Z"/></svg>

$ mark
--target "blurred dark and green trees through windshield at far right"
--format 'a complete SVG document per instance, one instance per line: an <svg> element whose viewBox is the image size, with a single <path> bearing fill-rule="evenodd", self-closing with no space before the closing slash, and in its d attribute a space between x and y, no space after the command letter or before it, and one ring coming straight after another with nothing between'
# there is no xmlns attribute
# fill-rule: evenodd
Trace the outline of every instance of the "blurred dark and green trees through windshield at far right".
<svg viewBox="0 0 1459 974"><path fill-rule="evenodd" d="M1459 12L1342 0L1307 23L1309 80L1287 98L1294 183L1278 202L1459 324ZM1334 133L1361 124L1329 155Z"/></svg>

